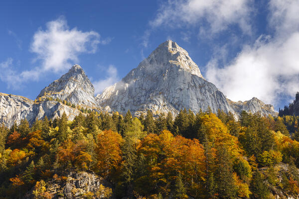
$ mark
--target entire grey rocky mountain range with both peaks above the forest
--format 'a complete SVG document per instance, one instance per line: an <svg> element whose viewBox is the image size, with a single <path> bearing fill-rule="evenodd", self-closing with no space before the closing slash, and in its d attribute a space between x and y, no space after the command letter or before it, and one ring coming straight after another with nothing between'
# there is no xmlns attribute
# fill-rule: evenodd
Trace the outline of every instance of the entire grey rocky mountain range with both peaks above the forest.
<svg viewBox="0 0 299 199"><path fill-rule="evenodd" d="M36 100L0 94L0 122L11 126L26 118L32 124L36 118L47 116L53 119L63 112L73 119L83 109L121 114L130 109L134 115L149 109L154 115L168 111L176 115L183 108L196 113L208 107L212 112L220 109L232 112L236 117L243 110L277 115L273 105L257 98L244 102L227 99L214 84L204 79L185 49L167 40L120 82L96 97L92 83L77 64L42 89Z"/></svg>

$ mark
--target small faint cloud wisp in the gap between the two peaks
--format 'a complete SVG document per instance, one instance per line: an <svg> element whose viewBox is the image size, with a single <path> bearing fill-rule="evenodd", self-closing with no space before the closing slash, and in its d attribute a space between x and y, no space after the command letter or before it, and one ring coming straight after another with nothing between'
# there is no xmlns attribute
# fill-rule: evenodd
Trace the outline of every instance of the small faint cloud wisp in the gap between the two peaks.
<svg viewBox="0 0 299 199"><path fill-rule="evenodd" d="M93 82L93 85L95 87L95 94L102 93L104 89L119 81L117 69L113 65L110 65L108 67L106 73L106 79Z"/></svg>

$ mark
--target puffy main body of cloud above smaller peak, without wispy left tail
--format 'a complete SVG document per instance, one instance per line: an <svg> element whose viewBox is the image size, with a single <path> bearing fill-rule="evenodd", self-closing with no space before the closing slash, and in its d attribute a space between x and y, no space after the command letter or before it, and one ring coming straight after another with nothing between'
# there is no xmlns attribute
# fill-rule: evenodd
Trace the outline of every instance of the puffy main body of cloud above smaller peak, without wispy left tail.
<svg viewBox="0 0 299 199"><path fill-rule="evenodd" d="M95 53L97 45L101 43L99 33L69 29L63 18L48 22L46 27L46 30L35 32L30 47L37 54L36 59L41 61L42 71L64 71L72 63L79 62L79 54Z"/></svg>

